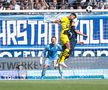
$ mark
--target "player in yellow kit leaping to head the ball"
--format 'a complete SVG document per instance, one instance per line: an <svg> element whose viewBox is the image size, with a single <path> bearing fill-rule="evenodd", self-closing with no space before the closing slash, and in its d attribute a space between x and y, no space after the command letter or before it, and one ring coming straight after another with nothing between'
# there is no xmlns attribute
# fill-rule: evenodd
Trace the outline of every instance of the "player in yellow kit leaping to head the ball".
<svg viewBox="0 0 108 90"><path fill-rule="evenodd" d="M67 67L64 63L67 56L69 56L70 52L70 41L68 37L68 31L70 29L70 21L76 18L75 13L71 13L69 16L62 17L59 20L51 21L51 23L60 23L61 31L60 31L60 41L62 44L62 52L60 53L58 64Z"/></svg>

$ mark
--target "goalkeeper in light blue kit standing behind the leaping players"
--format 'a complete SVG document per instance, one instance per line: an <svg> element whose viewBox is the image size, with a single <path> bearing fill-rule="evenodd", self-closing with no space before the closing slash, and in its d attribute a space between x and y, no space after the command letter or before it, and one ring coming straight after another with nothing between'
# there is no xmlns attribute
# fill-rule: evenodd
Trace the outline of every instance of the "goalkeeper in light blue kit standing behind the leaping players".
<svg viewBox="0 0 108 90"><path fill-rule="evenodd" d="M53 63L53 66L56 67L56 61L58 59L58 51L61 51L62 47L59 44L56 44L56 37L51 38L51 44L47 45L41 55L40 58L40 64L42 64L43 57L45 57L44 66L41 73L41 79L45 76L46 70L48 66L50 66ZM61 78L63 78L62 75L62 69L61 66L57 66L59 73L61 75Z"/></svg>

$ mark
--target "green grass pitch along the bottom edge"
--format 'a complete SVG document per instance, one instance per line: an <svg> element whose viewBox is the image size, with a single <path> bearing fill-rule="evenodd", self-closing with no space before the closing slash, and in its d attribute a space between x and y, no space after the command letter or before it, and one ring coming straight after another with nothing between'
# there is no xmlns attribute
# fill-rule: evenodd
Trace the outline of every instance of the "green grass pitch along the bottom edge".
<svg viewBox="0 0 108 90"><path fill-rule="evenodd" d="M0 90L108 90L108 80L1 80Z"/></svg>

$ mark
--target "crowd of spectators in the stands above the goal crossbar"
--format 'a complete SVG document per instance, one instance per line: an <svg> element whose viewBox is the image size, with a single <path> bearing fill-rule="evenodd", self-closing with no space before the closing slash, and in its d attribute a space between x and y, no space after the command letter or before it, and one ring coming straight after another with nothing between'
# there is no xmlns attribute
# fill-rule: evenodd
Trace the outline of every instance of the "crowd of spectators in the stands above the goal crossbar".
<svg viewBox="0 0 108 90"><path fill-rule="evenodd" d="M0 0L0 10L108 9L108 0Z"/></svg>

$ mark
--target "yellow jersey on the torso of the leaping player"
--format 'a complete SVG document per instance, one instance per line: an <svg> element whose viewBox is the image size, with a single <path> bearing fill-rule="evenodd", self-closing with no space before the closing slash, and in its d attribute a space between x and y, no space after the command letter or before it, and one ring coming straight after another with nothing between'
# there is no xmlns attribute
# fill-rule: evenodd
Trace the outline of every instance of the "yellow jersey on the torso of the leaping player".
<svg viewBox="0 0 108 90"><path fill-rule="evenodd" d="M61 31L60 31L60 35L61 35L64 33L64 31L69 30L70 20L68 19L68 17L62 17L60 19L60 24L61 24Z"/></svg>

